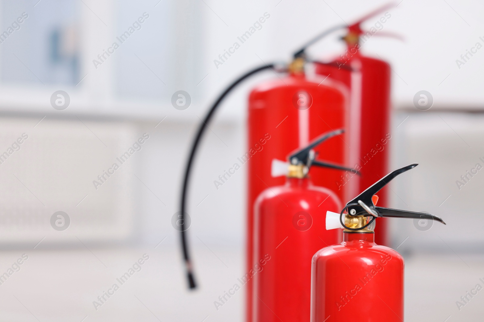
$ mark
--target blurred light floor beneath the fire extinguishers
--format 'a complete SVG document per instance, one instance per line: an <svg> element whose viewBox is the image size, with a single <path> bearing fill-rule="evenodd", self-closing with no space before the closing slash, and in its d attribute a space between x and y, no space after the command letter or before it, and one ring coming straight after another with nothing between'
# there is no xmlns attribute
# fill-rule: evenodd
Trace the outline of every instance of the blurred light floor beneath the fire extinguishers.
<svg viewBox="0 0 484 322"><path fill-rule="evenodd" d="M23 253L29 258L0 285L1 322L243 321L243 287L219 310L213 305L243 275L240 249L198 246L196 292L186 290L177 246L3 251L0 274ZM145 253L141 270L121 285L116 279ZM481 254L407 257L405 320L483 321L484 290L460 311L455 304L477 283L484 286L479 278ZM119 290L96 310L92 302L114 283Z"/></svg>

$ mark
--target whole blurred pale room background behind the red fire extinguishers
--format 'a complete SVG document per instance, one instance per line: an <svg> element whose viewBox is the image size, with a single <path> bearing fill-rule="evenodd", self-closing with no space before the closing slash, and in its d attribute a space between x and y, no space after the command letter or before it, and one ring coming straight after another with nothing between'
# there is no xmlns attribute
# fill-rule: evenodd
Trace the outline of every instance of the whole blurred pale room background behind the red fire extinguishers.
<svg viewBox="0 0 484 322"><path fill-rule="evenodd" d="M0 0L0 274L23 263L0 285L0 321L243 321L243 289L223 308L213 301L244 275L246 169L218 190L213 181L245 151L250 88L275 75L227 98L197 154L187 211L200 287L190 292L171 220L195 129L245 70L288 61L321 30L384 3ZM392 206L447 222L426 231L391 222L406 259L406 320L482 321L484 294L460 310L455 302L484 278L484 174L456 183L484 165L484 3L401 0L388 12L384 31L404 40L373 37L362 50L392 67L392 168L420 164L392 182ZM332 59L342 34L309 54ZM185 110L171 102L179 90ZM430 110L413 104L421 90ZM56 220L68 229L53 229ZM139 271L93 305L135 262Z"/></svg>

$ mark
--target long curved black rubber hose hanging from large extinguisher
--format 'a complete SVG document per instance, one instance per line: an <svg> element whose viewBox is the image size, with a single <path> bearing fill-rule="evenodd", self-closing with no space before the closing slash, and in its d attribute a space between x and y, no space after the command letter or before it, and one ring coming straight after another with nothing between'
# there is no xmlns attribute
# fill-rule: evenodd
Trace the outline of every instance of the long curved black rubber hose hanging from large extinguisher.
<svg viewBox="0 0 484 322"><path fill-rule="evenodd" d="M195 153L197 152L197 148L199 146L202 135L205 132L205 128L208 126L208 123L212 119L215 110L220 105L222 100L227 96L227 94L230 93L230 91L232 89L234 89L234 87L236 87L243 80L245 80L246 78L258 73L259 71L263 71L263 70L267 70L267 69L272 70L273 67L274 67L274 64L269 64L269 65L264 65L262 67L257 67L253 70L246 72L241 77L236 79L217 98L215 103L213 103L212 107L210 108L210 111L207 113L207 115L205 116L205 119L202 121L202 123L198 127L197 136L195 137L195 140L193 141L192 147L190 149L190 156L188 157L188 162L186 164L185 175L184 175L184 178L183 178L183 186L181 188L181 215L180 216L181 216L181 222L182 223L184 223L184 220L185 220L184 217L185 217L185 209L186 209L186 196L187 196L188 180L189 180L189 177L190 177L190 171L192 169ZM194 278L194 275L193 275L192 263L190 261L190 253L188 252L188 245L187 245L187 242L186 242L186 230L185 229L181 229L181 247L183 249L183 258L185 260L185 267L186 267L186 272L187 272L188 283L190 285L190 288L194 289L194 288L197 287L197 284L195 283L195 278Z"/></svg>

